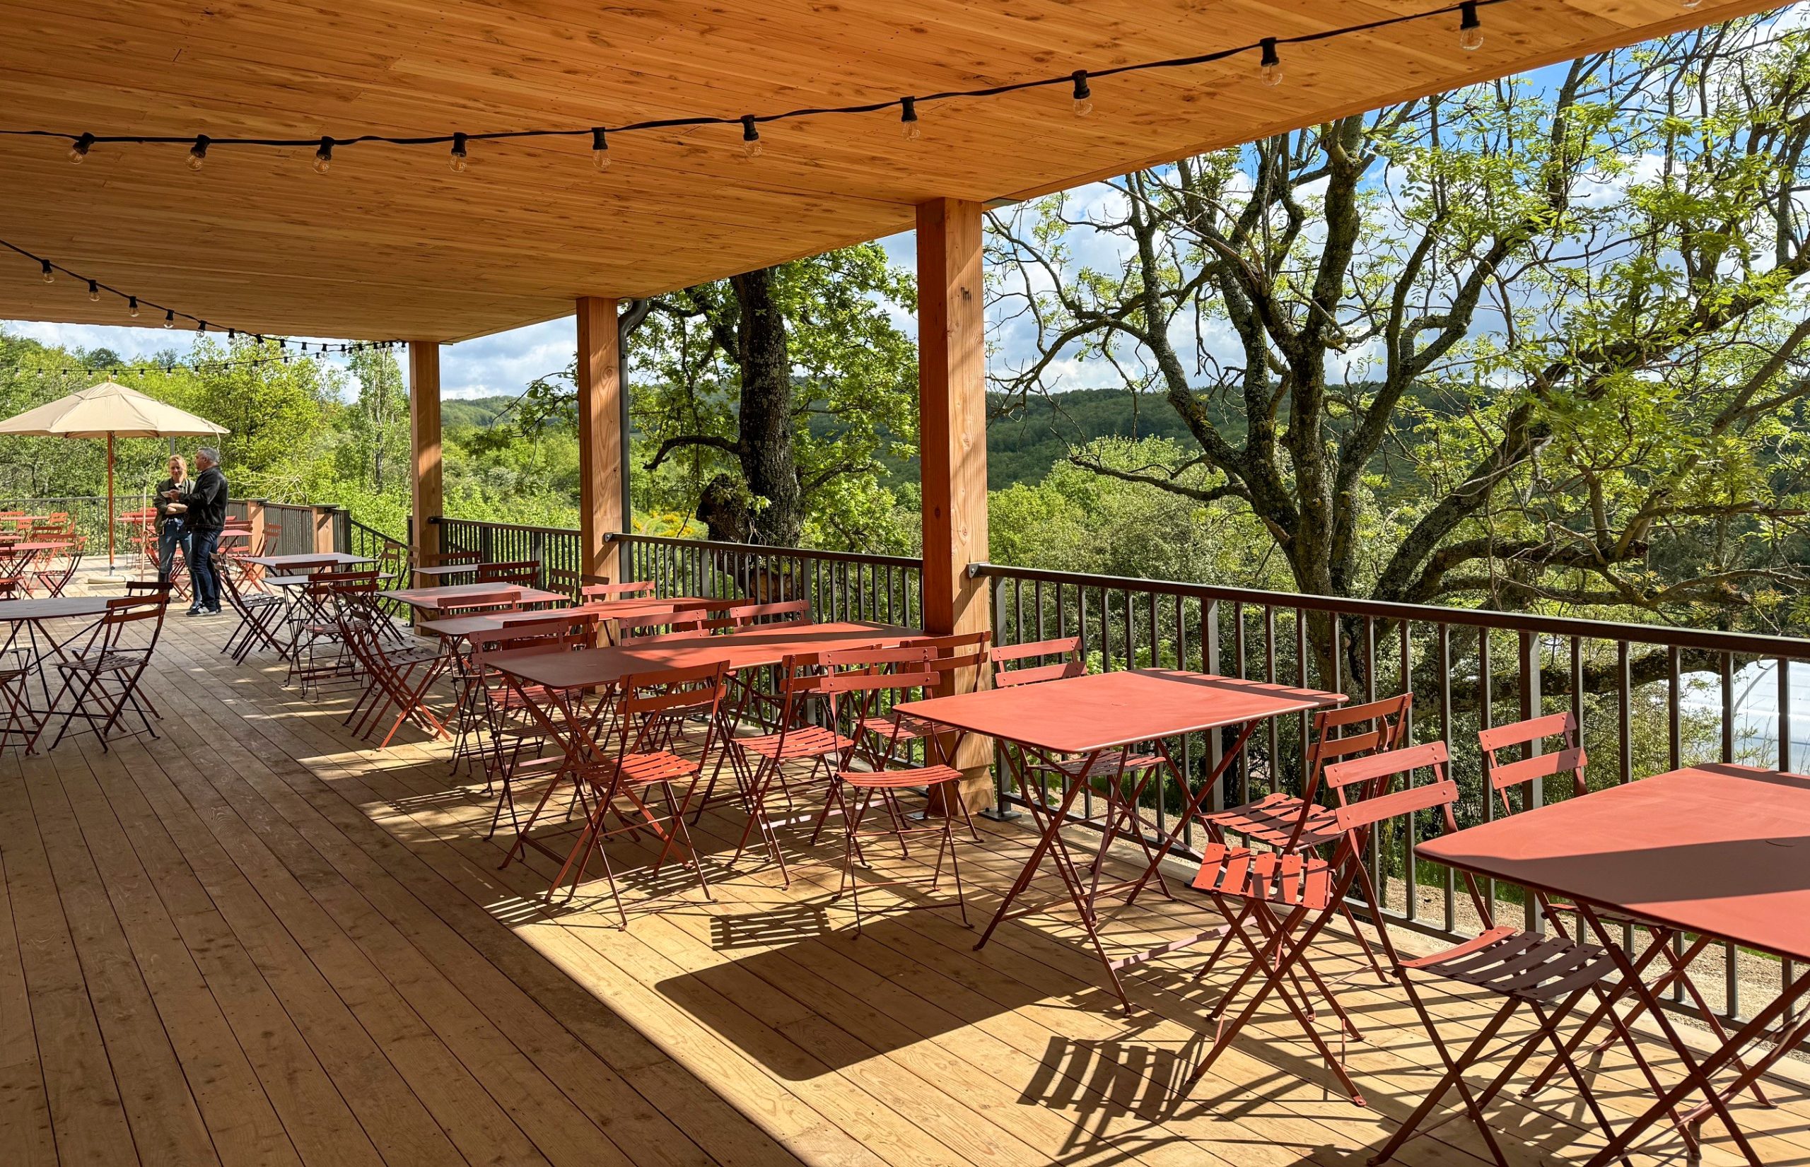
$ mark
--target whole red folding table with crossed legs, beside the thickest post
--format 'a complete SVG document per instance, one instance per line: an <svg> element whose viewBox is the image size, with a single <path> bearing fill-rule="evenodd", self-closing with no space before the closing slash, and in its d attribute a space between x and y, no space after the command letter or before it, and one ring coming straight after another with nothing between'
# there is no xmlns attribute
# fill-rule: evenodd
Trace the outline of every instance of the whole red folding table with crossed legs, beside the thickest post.
<svg viewBox="0 0 1810 1167"><path fill-rule="evenodd" d="M1135 955L1124 961L1113 961L1106 955L1106 946L1100 943L1099 919L1093 912L1095 897L1102 890L1128 890L1126 903L1129 903L1137 897L1151 876L1157 878L1158 887L1162 887L1167 894L1167 885L1162 881L1162 872L1158 870L1164 854L1182 836L1187 821L1195 820L1200 814L1200 809L1211 800L1213 791L1225 774L1225 767L1238 756L1240 747L1251 733L1272 716L1310 713L1314 709L1338 706L1343 700L1345 697L1339 693L1300 689L1262 680L1238 680L1234 677L1215 677L1211 673L1124 669L1115 673L1068 677L1062 680L1044 680L1039 684L1012 686L1005 689L957 693L954 697L932 697L927 700L905 702L898 706L898 713L948 726L950 729L961 733L976 733L999 742L1010 742L1017 745L1019 751L1037 754L1052 767L1055 760L1062 756L1079 754L1086 760L1081 773L1088 774L1088 778L1068 783L1068 789L1062 792L1062 802L1055 809L1050 809L1043 798L1028 796L1030 785L1026 782L1026 767L1021 753L1005 751L1006 769L1010 771L1019 791L1026 794L1024 803L1030 807L1032 818L1037 821L1043 834L1032 849L1030 859L1024 861L1024 868L1019 872L1017 881L1014 881L1012 888L999 903L999 910L994 912L994 919L986 925L986 932L981 934L979 943L974 946L981 948L988 939L992 939L994 930L1003 921L1043 912L1048 906L1032 905L1014 910L1012 905L1030 887L1030 881L1037 876L1037 868L1043 865L1044 858L1050 858L1053 859L1055 870L1062 879L1068 899L1081 914L1081 926L1086 930L1088 941L1093 944L1093 952L1100 957L1100 964L1106 966L1106 977L1111 981L1113 991L1129 1010L1131 1001L1126 997L1124 986L1119 982L1119 970L1146 959L1146 955ZM1175 765L1175 758L1169 754L1166 742L1189 733L1218 731L1227 726L1238 726L1238 740L1225 749L1220 764L1213 767L1213 773L1209 773L1198 787L1189 789L1187 780L1180 767ZM1122 767L1099 767L1097 762L1106 751L1142 742L1153 742L1157 745L1157 753L1162 756L1162 765L1146 771L1138 780L1137 789L1126 794L1122 791ZM1175 778L1184 796L1184 807L1182 812L1176 814L1175 827L1164 843L1160 847L1151 847L1149 840L1144 838L1138 796L1151 782L1158 783L1160 792L1162 771L1167 771L1169 776ZM1093 776L1108 778L1108 807L1106 821L1100 827L1099 847L1091 861L1091 876L1082 879L1081 870L1068 850L1068 843L1062 841L1061 830L1062 823L1070 818L1075 796L1082 789L1091 789L1090 780ZM1126 827L1131 829L1131 836L1144 850L1144 874L1138 879L1126 881L1124 885L1102 888L1099 879L1100 870L1104 868L1106 849L1111 847L1113 840L1122 834L1122 829Z"/></svg>

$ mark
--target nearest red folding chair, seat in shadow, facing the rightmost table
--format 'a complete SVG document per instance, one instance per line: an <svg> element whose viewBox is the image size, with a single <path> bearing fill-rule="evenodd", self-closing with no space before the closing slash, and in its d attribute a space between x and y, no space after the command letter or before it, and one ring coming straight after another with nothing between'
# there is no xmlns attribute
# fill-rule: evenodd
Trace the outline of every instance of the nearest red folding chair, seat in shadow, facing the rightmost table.
<svg viewBox="0 0 1810 1167"><path fill-rule="evenodd" d="M1504 782L1508 785L1526 782L1544 765L1555 765L1557 773L1557 769L1564 767L1566 758L1533 758L1531 762L1535 762L1535 765L1519 771L1522 774L1520 778L1510 774ZM1457 830L1459 825L1452 812L1452 805L1457 802L1459 791L1457 785L1446 778L1444 765L1444 742L1430 742L1428 745L1397 749L1386 754L1376 754L1327 767L1329 782L1381 780L1396 774L1406 774L1419 767L1428 767L1437 776L1435 783L1421 789L1406 789L1370 798L1352 809L1341 807L1339 827L1347 832L1361 830L1368 834L1370 829L1385 818L1405 814L1408 816L1408 830L1414 830L1414 812L1437 809L1443 814L1444 830ZM1361 838L1358 834L1350 834L1350 838L1354 840L1352 845L1361 852ZM1379 897L1376 885L1370 879L1370 872L1365 868L1361 859L1354 863L1354 867L1361 892L1370 903L1370 912L1374 914L1374 919L1381 921L1381 912L1377 910ZM1529 890L1535 897L1538 912L1551 925L1551 934L1542 935L1538 932L1497 925L1490 899L1477 887L1475 876L1470 872L1461 874L1464 878L1464 887L1470 892L1472 906L1477 910L1477 917L1484 926L1477 937L1426 957L1405 961L1396 952L1388 928L1377 926L1377 939L1383 944L1383 952L1396 968L1401 986L1408 995L1408 1004L1414 1006L1415 1015L1421 1019L1421 1028L1426 1029L1428 1040L1439 1053L1444 1077L1432 1091L1428 1091L1414 1113L1401 1124L1401 1127L1396 1129L1396 1134L1381 1151L1377 1151L1377 1154L1370 1158L1370 1162L1388 1162L1403 1147L1403 1143L1415 1134L1424 1133L1419 1131L1421 1122L1435 1105L1439 1105L1446 1093L1455 1089L1464 1104L1464 1113L1477 1125L1477 1131L1482 1134L1482 1142L1490 1147L1490 1154L1495 1158L1497 1165L1508 1167L1508 1158L1495 1142L1495 1131L1490 1129L1490 1124L1484 1118L1484 1107L1490 1105L1510 1078L1513 1078L1513 1075L1542 1044L1549 1044L1553 1048L1555 1060L1566 1067L1578 1096L1584 1098L1586 1107L1602 1129L1604 1138L1613 1138L1615 1129L1609 1124L1609 1116L1604 1113L1602 1104L1596 1102L1596 1096L1589 1087L1589 1080L1578 1069L1571 1051L1558 1039L1558 1026L1586 995L1595 993L1598 1001L1609 999L1607 984L1620 979L1615 957L1598 944L1587 944L1573 939L1564 930L1560 916L1553 910L1553 905L1538 892ZM1417 984L1421 977L1450 981L1472 990L1482 990L1484 993L1500 999L1500 1006L1490 1020L1484 1022L1482 1029L1479 1029L1455 1057L1444 1037L1439 1033L1439 1026L1434 1022L1432 1011L1428 1011L1426 1002L1421 999ZM1484 1060L1491 1042L1495 1042L1497 1035L1508 1020L1520 1011L1522 1006L1533 1013L1533 1033L1526 1039L1511 1039L1508 1044L1520 1044L1517 1053L1482 1089L1482 1093L1472 1091L1464 1073L1477 1062ZM1622 1044L1629 1049L1636 1066L1640 1066L1645 1075L1647 1086L1654 1091L1654 1095L1663 1095L1665 1091L1660 1087L1660 1082L1645 1057L1642 1057L1640 1046L1634 1042L1634 1035L1613 1010L1607 1011L1607 1019L1615 1028L1616 1037L1620 1037ZM1696 1147L1691 1131L1685 1131L1685 1142L1691 1145L1694 1158ZM1627 1162L1625 1156L1624 1162Z"/></svg>

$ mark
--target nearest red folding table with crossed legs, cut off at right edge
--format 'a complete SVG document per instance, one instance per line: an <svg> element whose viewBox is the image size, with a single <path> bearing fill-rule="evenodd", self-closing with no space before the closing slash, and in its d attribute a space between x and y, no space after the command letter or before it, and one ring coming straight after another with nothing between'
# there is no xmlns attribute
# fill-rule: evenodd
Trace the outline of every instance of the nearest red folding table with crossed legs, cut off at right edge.
<svg viewBox="0 0 1810 1167"><path fill-rule="evenodd" d="M1761 1163L1729 1105L1810 1035L1810 1017L1794 1010L1810 991L1810 778L1750 765L1692 765L1470 827L1421 843L1417 854L1577 903L1622 972L1616 991L1634 997L1653 1015L1683 1062L1683 1080L1618 1131L1589 1160L1591 1167L1618 1160L1691 1095L1703 1095L1703 1102L1683 1113L1681 1122L1700 1124L1718 1115L1747 1160ZM1600 910L1765 952L1796 963L1799 975L1729 1040L1698 1058L1680 1040L1633 954L1611 939ZM1781 1019L1785 1024L1770 1033ZM1772 1040L1774 1049L1732 1080L1712 1086L1759 1039ZM1531 1048L1500 1078L1528 1053ZM1446 1075L1372 1162L1394 1154L1450 1086Z"/></svg>

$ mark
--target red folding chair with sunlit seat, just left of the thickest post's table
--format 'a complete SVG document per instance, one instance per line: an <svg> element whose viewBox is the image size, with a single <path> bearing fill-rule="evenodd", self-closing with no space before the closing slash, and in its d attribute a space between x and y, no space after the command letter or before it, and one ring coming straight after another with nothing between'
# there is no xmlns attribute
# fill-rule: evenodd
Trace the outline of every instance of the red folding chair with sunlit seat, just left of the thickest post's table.
<svg viewBox="0 0 1810 1167"><path fill-rule="evenodd" d="M831 805L842 811L842 879L836 883L836 897L840 899L843 892L849 894L849 901L854 906L856 934L862 930L860 868L869 867L862 840L880 836L898 840L901 859L910 858L909 840L934 836L936 861L930 865L927 890L936 892L941 885L943 858L948 856L950 874L956 883L956 908L961 912L963 926L974 926L968 923L968 905L961 890L961 859L956 856L956 836L950 829L954 814L948 811L950 805L961 803L957 792L961 789L961 771L948 765L939 751L938 760L932 762L927 758L923 765L887 765L885 762L876 762L892 758L898 753L896 735L900 733L900 718L892 716L891 707L938 684L939 675L932 664L934 651L934 648L919 644L916 648L863 648L822 653L816 662L818 669L804 673L800 680L805 691L824 695L829 700L831 720L836 720L838 697L853 704L853 709L845 709L845 713L854 720L854 733L842 738L843 747L831 773L829 796L824 800L824 814L818 818L818 827L829 816ZM863 751L862 744L871 742L876 735L892 736L885 742L883 749ZM930 742L938 742L938 738L932 736ZM863 765L856 767L856 762ZM914 789L923 789L927 800L923 818L916 821L901 802L901 794ZM843 798L843 792L849 794L849 800ZM941 798L941 803L938 803L938 798ZM885 812L887 823L878 829L865 827L863 823L867 823L876 800ZM941 811L934 809L938 805L941 805ZM811 838L814 840L816 834L813 832ZM869 881L867 887L921 885L923 878L880 879ZM938 908L948 905L912 903L905 906Z"/></svg>

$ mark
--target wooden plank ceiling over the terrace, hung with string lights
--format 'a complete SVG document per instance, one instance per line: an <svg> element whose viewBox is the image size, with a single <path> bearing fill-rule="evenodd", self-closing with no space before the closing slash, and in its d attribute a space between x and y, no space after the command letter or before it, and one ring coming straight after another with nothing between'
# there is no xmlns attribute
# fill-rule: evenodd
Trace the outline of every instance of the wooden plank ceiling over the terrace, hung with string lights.
<svg viewBox="0 0 1810 1167"><path fill-rule="evenodd" d="M445 134L740 116L1211 52L1443 0L0 0L0 128L215 138ZM0 138L0 239L221 327L458 340L878 239L930 197L1014 199L1759 11L1752 0L1506 0L1457 18L1066 89L766 127L586 139L215 147ZM0 257L0 318L125 324ZM145 320L148 322L148 320Z"/></svg>

